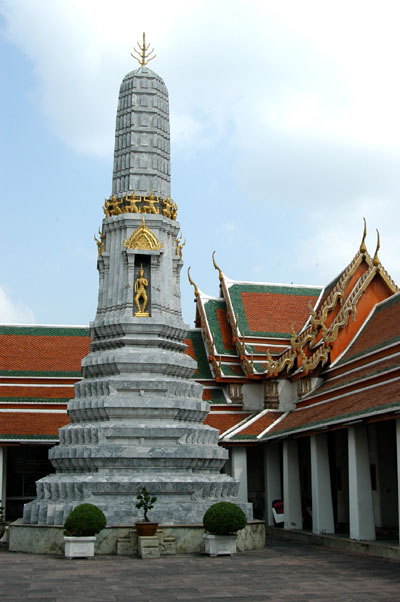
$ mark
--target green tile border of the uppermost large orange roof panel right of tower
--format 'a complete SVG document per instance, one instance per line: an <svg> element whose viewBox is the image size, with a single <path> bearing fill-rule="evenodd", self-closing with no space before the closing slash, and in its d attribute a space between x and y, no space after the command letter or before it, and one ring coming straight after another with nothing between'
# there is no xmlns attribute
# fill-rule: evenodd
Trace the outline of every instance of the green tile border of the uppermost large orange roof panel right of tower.
<svg viewBox="0 0 400 602"><path fill-rule="evenodd" d="M263 332L250 330L244 311L241 293L268 293L274 295L294 295L296 297L319 297L322 287L303 288L299 286L285 286L274 284L233 284L228 292L231 298L233 312L237 315L239 330L245 336L271 337L276 339L290 339L290 332Z"/></svg>

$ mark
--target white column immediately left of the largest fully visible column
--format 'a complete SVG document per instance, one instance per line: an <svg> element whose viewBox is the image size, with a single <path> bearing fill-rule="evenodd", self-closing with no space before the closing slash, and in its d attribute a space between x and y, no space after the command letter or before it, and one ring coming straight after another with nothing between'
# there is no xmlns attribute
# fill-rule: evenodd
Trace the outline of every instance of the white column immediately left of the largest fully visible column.
<svg viewBox="0 0 400 602"><path fill-rule="evenodd" d="M311 435L310 451L313 533L334 533L335 524L326 434Z"/></svg>

